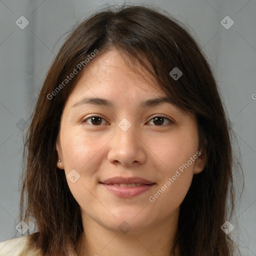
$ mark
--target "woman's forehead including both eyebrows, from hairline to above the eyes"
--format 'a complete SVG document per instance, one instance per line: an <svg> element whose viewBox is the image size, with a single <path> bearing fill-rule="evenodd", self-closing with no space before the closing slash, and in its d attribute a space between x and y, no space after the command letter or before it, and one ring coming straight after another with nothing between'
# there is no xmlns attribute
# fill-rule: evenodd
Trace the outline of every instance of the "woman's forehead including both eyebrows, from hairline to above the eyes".
<svg viewBox="0 0 256 256"><path fill-rule="evenodd" d="M94 59L83 70L68 98L66 110L77 112L94 105L138 111L164 104L185 114L173 104L147 70L134 71L126 65L126 60L117 50L110 50Z"/></svg>

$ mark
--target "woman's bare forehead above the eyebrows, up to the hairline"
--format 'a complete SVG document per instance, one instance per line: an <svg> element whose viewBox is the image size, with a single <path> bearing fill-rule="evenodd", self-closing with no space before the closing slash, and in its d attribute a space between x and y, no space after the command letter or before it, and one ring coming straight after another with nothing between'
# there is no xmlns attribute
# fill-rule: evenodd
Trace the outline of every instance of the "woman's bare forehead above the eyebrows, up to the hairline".
<svg viewBox="0 0 256 256"><path fill-rule="evenodd" d="M125 58L116 49L111 49L97 56L83 70L76 83L69 101L77 100L82 95L114 99L120 96L152 97L166 96L154 77L146 70L132 70L127 66L130 59Z"/></svg>

